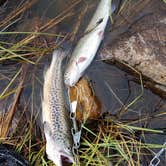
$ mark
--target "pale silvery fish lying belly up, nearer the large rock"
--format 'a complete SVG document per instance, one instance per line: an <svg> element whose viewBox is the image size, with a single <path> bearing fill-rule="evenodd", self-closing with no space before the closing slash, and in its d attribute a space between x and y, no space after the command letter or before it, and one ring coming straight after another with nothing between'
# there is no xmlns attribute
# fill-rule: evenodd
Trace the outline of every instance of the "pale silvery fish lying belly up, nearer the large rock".
<svg viewBox="0 0 166 166"><path fill-rule="evenodd" d="M111 0L100 1L83 37L78 41L66 66L64 82L67 86L74 86L91 64L103 40L110 12L112 13L115 8L115 5L111 6Z"/></svg>

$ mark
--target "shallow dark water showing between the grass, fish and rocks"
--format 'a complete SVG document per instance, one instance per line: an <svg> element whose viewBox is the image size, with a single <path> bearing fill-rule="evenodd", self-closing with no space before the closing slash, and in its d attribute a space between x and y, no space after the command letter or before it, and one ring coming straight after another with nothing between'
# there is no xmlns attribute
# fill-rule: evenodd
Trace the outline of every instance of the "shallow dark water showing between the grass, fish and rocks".
<svg viewBox="0 0 166 166"><path fill-rule="evenodd" d="M31 17L43 17L43 18L53 18L58 13L62 12L63 9L70 4L69 0L57 0L57 1L45 1L40 0L31 10ZM97 1L96 1L97 2ZM79 14L79 8L76 8ZM94 9L93 9L94 10ZM83 32L84 27L86 26L88 19L90 18L91 12L85 16L85 21L82 22L79 34ZM70 20L65 20L58 27L58 30L62 32L71 32L74 26L74 23L77 20L77 16L73 16ZM26 22L26 20L24 20ZM109 28L107 28L109 29ZM79 35L78 35L79 36ZM104 43L104 41L103 41ZM70 47L70 46L69 46ZM102 47L101 47L102 48ZM46 56L39 62L38 65L30 65L29 68L29 78L26 80L27 86L23 91L21 102L24 103L28 101L31 105L30 109L37 112L41 110L41 88L43 81L43 70L44 66L49 64L51 56ZM14 69L15 68L15 69ZM7 72L12 73L16 70L16 67L13 68L13 65L0 66L1 73ZM3 69L3 70L2 70ZM10 70L12 71L10 71ZM4 73L5 75L5 73ZM134 78L127 74L126 72L118 69L114 65L106 64L97 58L93 61L91 66L86 71L85 75L88 76L89 80L94 87L96 95L102 102L102 111L109 112L111 116L115 116L119 113L123 105L130 104L140 93L141 85L134 81ZM3 76L0 76L3 79ZM8 76L9 79L12 76ZM32 81L33 84L30 84L29 81ZM8 84L9 80L0 81L0 92ZM111 91L109 90L108 83ZM33 92L33 97L31 96ZM37 94L37 95L36 95ZM0 101L0 106L3 109L4 107L8 108L10 104L4 106L4 100ZM10 100L8 100L10 103ZM33 104L31 104L33 103ZM160 107L159 107L160 106ZM2 110L1 109L1 110ZM140 127L146 126L147 128L165 128L166 121L165 118L161 116L158 118L151 117L152 115L159 114L164 112L166 109L166 103L159 96L152 93L150 90L144 88L144 93L142 97L135 102L125 114L119 117L119 120L129 121L129 124L139 125ZM139 119L147 118L145 121L139 121ZM134 123L134 121L136 121ZM148 143L157 143L163 144L166 139L165 135L159 134L148 134L145 135L145 141Z"/></svg>

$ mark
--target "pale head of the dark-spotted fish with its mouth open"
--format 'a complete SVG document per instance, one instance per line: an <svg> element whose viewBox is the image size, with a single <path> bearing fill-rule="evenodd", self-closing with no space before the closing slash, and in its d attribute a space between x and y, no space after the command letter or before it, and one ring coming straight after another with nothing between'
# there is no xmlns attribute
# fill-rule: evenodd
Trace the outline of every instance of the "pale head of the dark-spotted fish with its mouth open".
<svg viewBox="0 0 166 166"><path fill-rule="evenodd" d="M44 133L46 137L46 154L56 166L62 166L62 158L68 162L74 163L74 156L71 149L71 143L63 133L57 133L53 136L48 124L44 124Z"/></svg>

